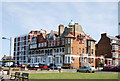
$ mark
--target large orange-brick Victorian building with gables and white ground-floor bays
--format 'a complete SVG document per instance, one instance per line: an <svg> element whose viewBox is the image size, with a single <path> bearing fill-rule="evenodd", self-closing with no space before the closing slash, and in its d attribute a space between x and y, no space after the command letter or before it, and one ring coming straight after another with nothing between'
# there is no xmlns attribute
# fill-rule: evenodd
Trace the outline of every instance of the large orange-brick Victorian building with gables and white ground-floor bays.
<svg viewBox="0 0 120 81"><path fill-rule="evenodd" d="M95 40L78 23L58 26L58 32L41 30L29 41L30 64L95 66Z"/></svg>

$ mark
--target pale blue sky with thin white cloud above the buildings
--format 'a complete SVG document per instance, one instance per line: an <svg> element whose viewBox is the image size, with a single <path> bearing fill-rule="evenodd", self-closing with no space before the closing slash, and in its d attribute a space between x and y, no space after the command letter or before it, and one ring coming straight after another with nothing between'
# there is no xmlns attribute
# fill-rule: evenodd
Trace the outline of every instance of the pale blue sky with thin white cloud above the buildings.
<svg viewBox="0 0 120 81"><path fill-rule="evenodd" d="M118 34L117 2L3 2L0 7L1 37L14 39L40 29L49 33L57 31L60 24L67 26L71 20L78 22L96 41L103 32L112 36ZM8 40L1 39L0 47L0 58L9 55Z"/></svg>

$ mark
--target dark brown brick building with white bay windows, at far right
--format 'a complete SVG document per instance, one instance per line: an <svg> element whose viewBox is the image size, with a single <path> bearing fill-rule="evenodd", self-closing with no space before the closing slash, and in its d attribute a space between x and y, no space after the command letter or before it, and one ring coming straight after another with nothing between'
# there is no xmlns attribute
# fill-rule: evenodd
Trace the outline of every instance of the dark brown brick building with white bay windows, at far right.
<svg viewBox="0 0 120 81"><path fill-rule="evenodd" d="M119 65L120 35L113 37L107 33L101 34L101 38L96 44L96 57L99 58L98 61L104 61L106 65Z"/></svg>

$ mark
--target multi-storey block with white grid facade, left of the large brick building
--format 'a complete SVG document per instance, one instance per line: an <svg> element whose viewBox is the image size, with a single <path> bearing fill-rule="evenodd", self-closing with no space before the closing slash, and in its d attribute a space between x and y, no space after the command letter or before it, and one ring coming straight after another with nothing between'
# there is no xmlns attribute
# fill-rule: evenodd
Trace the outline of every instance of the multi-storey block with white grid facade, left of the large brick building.
<svg viewBox="0 0 120 81"><path fill-rule="evenodd" d="M29 52L29 41L34 35L37 35L39 31L31 31L27 35L21 35L14 38L14 60L15 64L27 64L30 57Z"/></svg>

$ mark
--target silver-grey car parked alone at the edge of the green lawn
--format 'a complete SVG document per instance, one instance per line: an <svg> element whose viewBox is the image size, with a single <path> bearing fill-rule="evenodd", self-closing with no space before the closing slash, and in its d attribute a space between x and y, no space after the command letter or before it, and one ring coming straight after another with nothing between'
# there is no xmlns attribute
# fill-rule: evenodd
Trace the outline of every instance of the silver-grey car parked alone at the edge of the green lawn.
<svg viewBox="0 0 120 81"><path fill-rule="evenodd" d="M84 66L79 69L77 69L77 72L86 72L86 73L94 73L95 72L95 67L92 66Z"/></svg>

